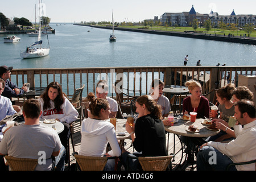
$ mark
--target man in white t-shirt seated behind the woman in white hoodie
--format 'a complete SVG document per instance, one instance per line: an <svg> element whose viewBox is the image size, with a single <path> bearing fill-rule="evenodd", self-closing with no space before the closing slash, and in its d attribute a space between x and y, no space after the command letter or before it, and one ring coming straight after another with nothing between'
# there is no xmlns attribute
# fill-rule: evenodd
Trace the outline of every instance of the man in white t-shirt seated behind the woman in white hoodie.
<svg viewBox="0 0 256 182"><path fill-rule="evenodd" d="M109 86L106 80L98 81L96 86L96 96L97 98L105 98L106 100L108 100L110 106L109 118L115 118L118 111L118 105L117 101L115 101L113 98L108 97L108 90Z"/></svg>

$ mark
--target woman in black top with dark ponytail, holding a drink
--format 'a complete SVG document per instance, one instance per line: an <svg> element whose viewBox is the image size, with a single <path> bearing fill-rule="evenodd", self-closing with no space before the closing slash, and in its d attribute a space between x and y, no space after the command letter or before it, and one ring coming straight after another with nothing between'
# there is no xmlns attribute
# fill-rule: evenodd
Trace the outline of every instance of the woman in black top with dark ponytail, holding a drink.
<svg viewBox="0 0 256 182"><path fill-rule="evenodd" d="M131 135L133 146L137 152L135 156L166 156L166 133L164 130L161 108L151 96L141 96L136 100L138 119L135 126L126 123L126 131ZM123 163L126 163L129 152L122 154ZM138 160L131 160L130 168L138 169Z"/></svg>

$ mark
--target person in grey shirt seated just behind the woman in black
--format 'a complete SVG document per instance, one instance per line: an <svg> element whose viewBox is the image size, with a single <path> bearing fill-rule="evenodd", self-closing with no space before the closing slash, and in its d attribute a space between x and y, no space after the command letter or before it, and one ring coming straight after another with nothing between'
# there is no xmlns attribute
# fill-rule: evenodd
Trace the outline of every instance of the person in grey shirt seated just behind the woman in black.
<svg viewBox="0 0 256 182"><path fill-rule="evenodd" d="M163 95L164 82L160 79L155 79L151 83L150 96L155 100L156 104L161 106L162 116L168 117L171 110L170 101Z"/></svg>

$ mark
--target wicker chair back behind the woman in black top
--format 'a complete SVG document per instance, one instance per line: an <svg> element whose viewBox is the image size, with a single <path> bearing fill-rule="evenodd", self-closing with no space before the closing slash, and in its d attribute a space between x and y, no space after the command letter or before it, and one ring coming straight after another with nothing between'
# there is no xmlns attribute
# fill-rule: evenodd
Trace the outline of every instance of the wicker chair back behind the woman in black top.
<svg viewBox="0 0 256 182"><path fill-rule="evenodd" d="M172 155L157 157L138 157L143 171L166 171L171 163Z"/></svg>

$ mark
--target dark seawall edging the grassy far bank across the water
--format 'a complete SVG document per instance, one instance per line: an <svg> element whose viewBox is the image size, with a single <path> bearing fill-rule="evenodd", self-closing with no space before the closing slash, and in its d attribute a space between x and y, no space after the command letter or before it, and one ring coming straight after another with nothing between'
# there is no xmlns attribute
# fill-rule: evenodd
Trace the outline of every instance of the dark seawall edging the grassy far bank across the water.
<svg viewBox="0 0 256 182"><path fill-rule="evenodd" d="M93 27L93 28L103 28L112 30L112 27L102 27L102 26L92 26L89 24L79 24L73 23L73 25L77 26L86 26L86 27ZM131 32L140 32L146 34L156 34L156 35L167 35L167 36L179 36L183 38L193 38L193 39L205 39L205 40L217 40L221 42L232 42L232 43L241 43L241 44L251 44L256 45L256 38L240 38L240 36L228 37L228 36L220 36L220 35L209 35L209 34L202 34L202 33L192 33L192 32L175 32L175 31L159 31L159 30L142 30L142 29L135 29L135 28L120 28L115 27L115 30L121 31L131 31Z"/></svg>

